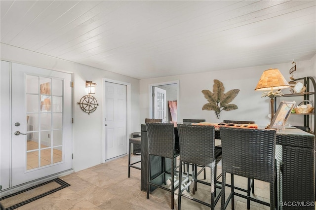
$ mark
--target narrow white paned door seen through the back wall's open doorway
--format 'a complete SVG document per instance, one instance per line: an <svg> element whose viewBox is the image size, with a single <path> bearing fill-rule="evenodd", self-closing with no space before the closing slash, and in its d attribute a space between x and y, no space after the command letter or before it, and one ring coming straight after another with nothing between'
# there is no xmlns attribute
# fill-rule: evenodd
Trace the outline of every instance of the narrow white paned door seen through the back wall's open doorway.
<svg viewBox="0 0 316 210"><path fill-rule="evenodd" d="M166 101L166 91L154 87L154 119L162 119L166 121L166 112L167 112L167 101Z"/></svg>

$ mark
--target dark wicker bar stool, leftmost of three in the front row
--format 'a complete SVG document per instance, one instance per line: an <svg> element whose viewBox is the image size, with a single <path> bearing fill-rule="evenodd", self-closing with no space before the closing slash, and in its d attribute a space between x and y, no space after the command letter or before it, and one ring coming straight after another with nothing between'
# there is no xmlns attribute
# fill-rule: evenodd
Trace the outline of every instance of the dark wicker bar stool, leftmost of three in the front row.
<svg viewBox="0 0 316 210"><path fill-rule="evenodd" d="M171 192L171 209L174 209L174 192L178 185L175 186L176 175L176 157L179 153L174 150L174 124L172 123L146 123L148 137L148 168L147 168L147 199L152 186ZM151 157L159 156L162 158L162 169L160 174L151 175ZM171 169L166 167L166 159L171 160ZM154 177L152 177L154 176ZM166 187L167 176L170 176L171 189ZM157 180L163 177L164 186L158 184Z"/></svg>

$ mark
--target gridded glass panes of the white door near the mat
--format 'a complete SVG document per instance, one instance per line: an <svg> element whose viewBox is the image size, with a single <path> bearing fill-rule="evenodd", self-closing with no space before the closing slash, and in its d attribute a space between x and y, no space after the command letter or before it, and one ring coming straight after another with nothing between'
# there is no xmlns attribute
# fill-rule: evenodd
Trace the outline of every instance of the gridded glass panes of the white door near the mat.
<svg viewBox="0 0 316 210"><path fill-rule="evenodd" d="M62 79L26 75L27 170L63 161L62 93Z"/></svg>

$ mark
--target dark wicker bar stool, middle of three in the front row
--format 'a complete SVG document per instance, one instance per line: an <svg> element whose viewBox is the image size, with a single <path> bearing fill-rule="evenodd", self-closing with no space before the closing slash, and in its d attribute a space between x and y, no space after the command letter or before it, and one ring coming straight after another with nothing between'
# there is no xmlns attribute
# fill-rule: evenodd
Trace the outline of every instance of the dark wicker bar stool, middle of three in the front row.
<svg viewBox="0 0 316 210"><path fill-rule="evenodd" d="M209 167L210 182L197 179L196 167L192 170L192 179L188 182L184 188L179 188L178 193L178 209L181 209L181 197L185 197L196 201L205 206L211 207L214 210L216 203L221 195L216 197L216 165L221 160L221 150L215 149L215 129L214 126L199 126L199 125L184 125L178 124L179 142L180 142L180 166L184 162L192 163L193 165L199 165L203 167ZM217 159L218 158L218 159ZM188 169L188 168L187 168ZM189 170L189 169L188 169ZM180 167L180 174L182 174L182 167ZM187 172L189 176L189 172ZM195 183L202 183L210 186L211 199L210 203L193 198L189 195L183 194L184 190L189 188L193 183L193 194L195 192ZM182 183L182 176L179 177L179 183Z"/></svg>

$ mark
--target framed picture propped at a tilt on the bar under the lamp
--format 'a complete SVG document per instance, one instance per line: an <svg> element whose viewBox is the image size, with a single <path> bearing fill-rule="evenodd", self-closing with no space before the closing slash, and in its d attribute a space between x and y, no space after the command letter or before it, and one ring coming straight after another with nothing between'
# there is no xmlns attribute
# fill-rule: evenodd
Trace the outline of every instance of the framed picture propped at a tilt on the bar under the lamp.
<svg viewBox="0 0 316 210"><path fill-rule="evenodd" d="M282 124L288 119L291 114L292 109L295 106L295 102L280 102L280 105L277 107L276 113L271 120L271 123L268 128L279 128Z"/></svg>

